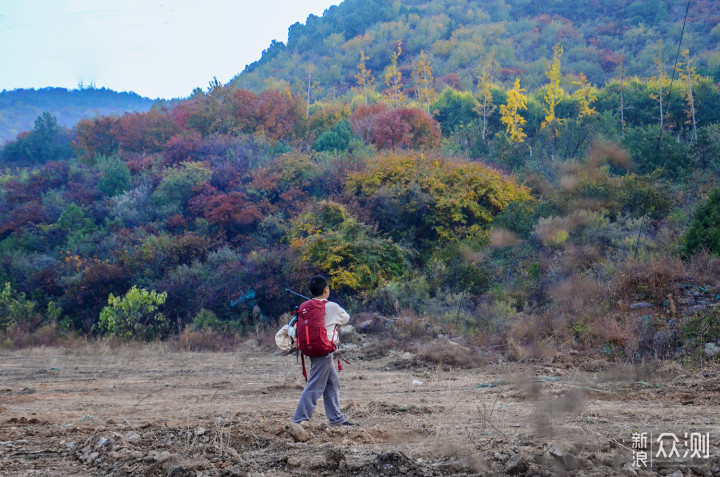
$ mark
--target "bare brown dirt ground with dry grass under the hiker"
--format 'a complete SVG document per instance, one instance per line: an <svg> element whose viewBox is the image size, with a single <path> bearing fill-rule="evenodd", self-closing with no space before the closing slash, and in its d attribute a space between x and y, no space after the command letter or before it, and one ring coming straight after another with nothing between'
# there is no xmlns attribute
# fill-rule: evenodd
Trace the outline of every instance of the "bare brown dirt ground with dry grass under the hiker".
<svg viewBox="0 0 720 477"><path fill-rule="evenodd" d="M327 427L319 402L296 442L300 366L252 341L0 351L0 475L720 476L717 365L346 357L341 404L359 426ZM632 465L633 432L648 467ZM679 457L655 457L661 433ZM686 433L709 435L709 457L684 457Z"/></svg>

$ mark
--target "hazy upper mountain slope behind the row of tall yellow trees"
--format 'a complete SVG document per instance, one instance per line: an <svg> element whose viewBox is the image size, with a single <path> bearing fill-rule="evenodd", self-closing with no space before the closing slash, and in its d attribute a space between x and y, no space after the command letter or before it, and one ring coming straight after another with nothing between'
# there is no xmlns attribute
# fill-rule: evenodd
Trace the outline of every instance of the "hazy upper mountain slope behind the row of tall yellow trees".
<svg viewBox="0 0 720 477"><path fill-rule="evenodd" d="M355 86L361 52L380 73L398 42L405 78L424 52L439 87L472 90L486 71L505 86L519 77L537 88L557 43L565 45L565 73L583 73L593 84L616 76L618 67L628 76L652 76L659 39L664 57L674 58L686 7L684 0L346 0L292 25L287 44L274 42L234 83L260 91L283 81L302 91L310 75L315 95L334 97ZM683 35L698 72L714 81L720 81L718 24L718 2L692 2Z"/></svg>

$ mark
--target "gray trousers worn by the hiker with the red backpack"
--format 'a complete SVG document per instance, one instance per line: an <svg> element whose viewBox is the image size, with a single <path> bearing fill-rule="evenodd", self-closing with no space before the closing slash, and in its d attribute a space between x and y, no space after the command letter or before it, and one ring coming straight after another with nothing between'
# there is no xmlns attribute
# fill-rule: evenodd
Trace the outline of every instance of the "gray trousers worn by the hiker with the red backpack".
<svg viewBox="0 0 720 477"><path fill-rule="evenodd" d="M300 396L293 422L309 421L320 396L323 397L330 425L345 422L345 416L340 412L340 378L333 366L333 356L333 353L328 353L310 358L310 376Z"/></svg>

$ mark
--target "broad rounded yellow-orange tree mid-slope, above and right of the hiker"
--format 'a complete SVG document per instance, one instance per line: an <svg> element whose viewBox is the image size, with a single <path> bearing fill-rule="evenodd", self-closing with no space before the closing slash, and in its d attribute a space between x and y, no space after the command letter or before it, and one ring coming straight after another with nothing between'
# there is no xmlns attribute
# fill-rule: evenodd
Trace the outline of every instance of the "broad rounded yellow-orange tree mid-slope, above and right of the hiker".
<svg viewBox="0 0 720 477"><path fill-rule="evenodd" d="M411 154L370 160L347 188L381 231L416 247L482 242L510 202L530 200L525 187L477 162Z"/></svg>

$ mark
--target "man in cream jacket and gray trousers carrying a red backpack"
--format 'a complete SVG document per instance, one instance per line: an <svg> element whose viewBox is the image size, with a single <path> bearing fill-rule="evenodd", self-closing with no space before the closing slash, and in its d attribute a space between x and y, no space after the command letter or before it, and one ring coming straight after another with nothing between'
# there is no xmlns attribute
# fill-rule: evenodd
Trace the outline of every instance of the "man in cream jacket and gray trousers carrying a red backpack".
<svg viewBox="0 0 720 477"><path fill-rule="evenodd" d="M303 421L309 421L315 411L318 398L322 396L325 403L325 414L327 414L331 426L354 426L340 412L340 379L335 371L333 360L333 351L339 343L337 327L346 324L350 320L350 315L337 303L328 301L330 287L325 277L317 275L310 279L310 293L313 296L312 300L306 301L299 307L297 339L298 341L303 339L304 333L311 329L307 326L301 329L302 323L300 322L303 320L303 314L308 314L308 310L321 309L324 305L327 341L323 341L328 345L329 352L310 357L310 377L300 396L293 422L300 424Z"/></svg>

